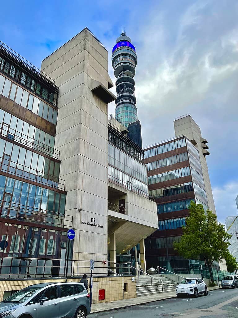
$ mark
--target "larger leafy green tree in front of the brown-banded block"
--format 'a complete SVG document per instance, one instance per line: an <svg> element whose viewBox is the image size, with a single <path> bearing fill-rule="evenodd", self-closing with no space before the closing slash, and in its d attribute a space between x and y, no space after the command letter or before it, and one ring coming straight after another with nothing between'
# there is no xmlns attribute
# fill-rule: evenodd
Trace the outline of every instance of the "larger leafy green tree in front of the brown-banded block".
<svg viewBox="0 0 238 318"><path fill-rule="evenodd" d="M225 259L231 235L223 224L217 223L212 211L207 210L205 214L202 204L191 201L189 210L181 241L174 242L174 248L186 259L204 259L214 284L212 264L215 260Z"/></svg>

